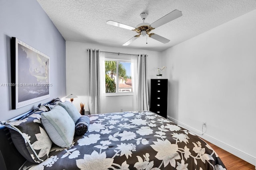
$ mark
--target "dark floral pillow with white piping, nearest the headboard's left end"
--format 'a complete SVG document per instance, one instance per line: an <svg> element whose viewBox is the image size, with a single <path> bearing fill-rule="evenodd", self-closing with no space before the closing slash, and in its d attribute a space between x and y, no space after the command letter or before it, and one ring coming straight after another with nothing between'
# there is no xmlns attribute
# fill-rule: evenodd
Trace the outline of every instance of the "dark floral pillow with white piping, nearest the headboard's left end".
<svg viewBox="0 0 256 170"><path fill-rule="evenodd" d="M17 121L2 121L10 129L12 141L17 150L32 163L41 163L48 158L52 141L41 124L42 111L29 113Z"/></svg>

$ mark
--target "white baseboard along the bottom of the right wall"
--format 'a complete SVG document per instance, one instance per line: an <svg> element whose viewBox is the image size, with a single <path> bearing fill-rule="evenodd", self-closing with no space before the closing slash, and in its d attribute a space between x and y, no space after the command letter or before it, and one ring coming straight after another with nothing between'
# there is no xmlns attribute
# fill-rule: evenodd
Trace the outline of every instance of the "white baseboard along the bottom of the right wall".
<svg viewBox="0 0 256 170"><path fill-rule="evenodd" d="M170 119L171 121L173 121L174 123L177 123L178 125L180 125L181 127L184 127L185 129L191 131L192 133L195 133L196 135L198 135L199 137L201 137L202 139L205 139L206 141L209 141L210 143L234 154L235 156L245 160L246 162L249 162L250 164L256 166L256 158L242 150L239 150L235 147L232 147L230 145L228 145L227 143L224 143L218 139L215 139L214 137L211 137L210 135L207 135L207 134L203 134L202 135L202 132L201 131L198 131L197 129L194 129L193 127L190 127L176 119L173 119L172 117L170 116L167 116L168 119ZM255 168L256 169L256 168Z"/></svg>

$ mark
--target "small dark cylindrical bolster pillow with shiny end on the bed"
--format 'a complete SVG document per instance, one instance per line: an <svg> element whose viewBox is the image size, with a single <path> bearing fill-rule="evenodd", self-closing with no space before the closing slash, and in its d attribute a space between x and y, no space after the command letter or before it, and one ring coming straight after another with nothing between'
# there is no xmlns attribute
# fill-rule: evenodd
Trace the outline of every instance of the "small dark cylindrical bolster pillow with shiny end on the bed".
<svg viewBox="0 0 256 170"><path fill-rule="evenodd" d="M89 128L90 125L90 117L86 115L82 115L76 121L75 135L81 136L84 135Z"/></svg>

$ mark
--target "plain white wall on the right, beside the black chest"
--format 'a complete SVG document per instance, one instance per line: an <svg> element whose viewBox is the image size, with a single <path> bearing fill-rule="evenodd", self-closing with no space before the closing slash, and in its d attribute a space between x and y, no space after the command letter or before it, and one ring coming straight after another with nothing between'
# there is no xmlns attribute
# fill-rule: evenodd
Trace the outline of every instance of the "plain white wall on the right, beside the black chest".
<svg viewBox="0 0 256 170"><path fill-rule="evenodd" d="M169 63L168 115L255 164L256 10L180 43ZM216 140L216 141L215 141Z"/></svg>

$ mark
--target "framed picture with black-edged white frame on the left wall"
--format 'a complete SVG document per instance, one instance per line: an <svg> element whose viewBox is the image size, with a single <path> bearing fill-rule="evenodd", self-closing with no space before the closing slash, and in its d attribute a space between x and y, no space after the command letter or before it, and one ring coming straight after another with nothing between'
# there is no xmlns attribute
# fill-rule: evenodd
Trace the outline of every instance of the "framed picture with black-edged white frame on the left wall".
<svg viewBox="0 0 256 170"><path fill-rule="evenodd" d="M11 38L12 109L50 97L50 57L16 37Z"/></svg>

